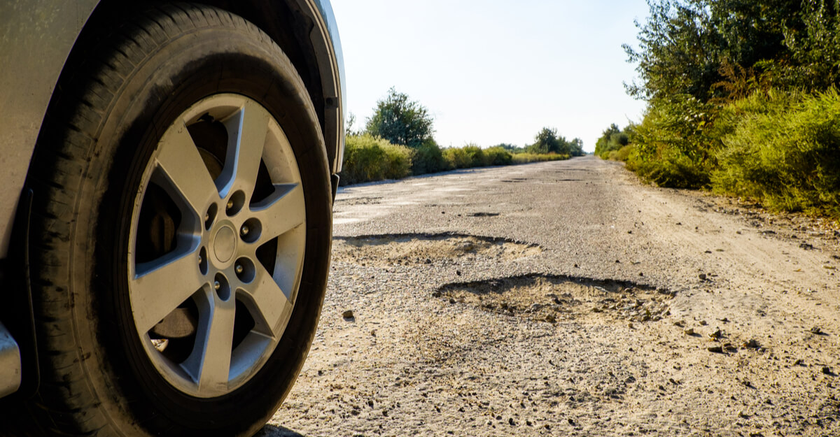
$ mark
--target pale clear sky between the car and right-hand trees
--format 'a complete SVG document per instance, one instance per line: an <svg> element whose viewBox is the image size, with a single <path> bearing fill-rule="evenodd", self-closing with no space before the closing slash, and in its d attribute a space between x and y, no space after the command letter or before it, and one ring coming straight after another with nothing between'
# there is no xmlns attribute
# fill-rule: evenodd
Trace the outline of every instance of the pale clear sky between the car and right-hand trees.
<svg viewBox="0 0 840 437"><path fill-rule="evenodd" d="M443 147L533 143L542 127L592 151L644 102L622 44L645 0L332 0L346 107L364 127L391 86L427 107Z"/></svg>

